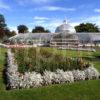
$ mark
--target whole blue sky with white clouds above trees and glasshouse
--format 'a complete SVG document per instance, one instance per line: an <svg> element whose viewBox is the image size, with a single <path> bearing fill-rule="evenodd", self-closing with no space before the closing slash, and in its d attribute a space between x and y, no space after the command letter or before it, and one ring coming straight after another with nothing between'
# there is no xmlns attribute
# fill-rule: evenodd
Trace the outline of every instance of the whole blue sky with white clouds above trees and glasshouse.
<svg viewBox="0 0 100 100"><path fill-rule="evenodd" d="M0 14L15 31L25 24L29 31L43 26L54 32L65 19L72 26L91 22L100 27L100 0L0 0Z"/></svg>

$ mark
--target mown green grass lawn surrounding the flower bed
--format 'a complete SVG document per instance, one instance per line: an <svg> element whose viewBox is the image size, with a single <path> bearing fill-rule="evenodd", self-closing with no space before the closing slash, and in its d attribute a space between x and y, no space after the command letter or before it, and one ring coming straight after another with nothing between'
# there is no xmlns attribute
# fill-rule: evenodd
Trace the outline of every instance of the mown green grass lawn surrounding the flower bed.
<svg viewBox="0 0 100 100"><path fill-rule="evenodd" d="M100 80L81 81L71 84L51 85L33 89L6 90L3 80L6 49L0 48L0 100L100 100ZM57 51L56 51L57 52ZM75 51L67 55L78 56ZM60 51L59 53L65 53ZM88 54L82 55L88 57ZM92 53L89 53L92 55ZM100 62L93 60L100 71Z"/></svg>

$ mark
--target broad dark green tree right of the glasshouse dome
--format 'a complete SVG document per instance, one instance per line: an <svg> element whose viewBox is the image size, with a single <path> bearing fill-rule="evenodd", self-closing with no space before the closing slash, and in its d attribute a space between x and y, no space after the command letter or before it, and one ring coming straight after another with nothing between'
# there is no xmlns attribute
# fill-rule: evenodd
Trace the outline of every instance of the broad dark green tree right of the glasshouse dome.
<svg viewBox="0 0 100 100"><path fill-rule="evenodd" d="M76 32L100 32L98 26L92 23L81 23L78 26L75 26Z"/></svg>

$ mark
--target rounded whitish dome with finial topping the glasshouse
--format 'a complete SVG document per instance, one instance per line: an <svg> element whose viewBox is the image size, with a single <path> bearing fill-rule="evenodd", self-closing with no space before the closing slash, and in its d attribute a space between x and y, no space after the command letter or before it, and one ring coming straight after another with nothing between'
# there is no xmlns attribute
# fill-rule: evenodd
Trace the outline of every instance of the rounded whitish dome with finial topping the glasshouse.
<svg viewBox="0 0 100 100"><path fill-rule="evenodd" d="M76 33L76 30L70 24L66 23L66 20L64 20L63 24L56 28L55 33L73 34Z"/></svg>

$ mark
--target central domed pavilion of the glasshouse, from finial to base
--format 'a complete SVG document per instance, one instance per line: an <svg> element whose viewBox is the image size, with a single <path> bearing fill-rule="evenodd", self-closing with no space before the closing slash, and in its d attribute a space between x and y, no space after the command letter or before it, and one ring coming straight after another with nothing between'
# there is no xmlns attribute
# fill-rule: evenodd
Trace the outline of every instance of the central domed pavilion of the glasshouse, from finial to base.
<svg viewBox="0 0 100 100"><path fill-rule="evenodd" d="M53 47L77 48L79 39L75 28L64 21L62 25L56 28L50 43Z"/></svg>

